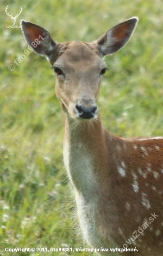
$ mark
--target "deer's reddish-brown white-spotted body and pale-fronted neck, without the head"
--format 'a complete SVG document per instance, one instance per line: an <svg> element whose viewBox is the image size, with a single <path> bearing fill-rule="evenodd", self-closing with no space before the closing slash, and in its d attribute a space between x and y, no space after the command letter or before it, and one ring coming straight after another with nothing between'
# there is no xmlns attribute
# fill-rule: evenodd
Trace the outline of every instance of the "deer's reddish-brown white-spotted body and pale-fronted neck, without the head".
<svg viewBox="0 0 163 256"><path fill-rule="evenodd" d="M108 133L100 120L93 127L85 123L76 128L67 117L64 122L69 133L64 138L64 163L75 187L78 216L87 242L93 248L123 248L123 244L130 248L132 243L131 248L137 247L142 253L132 252L133 256L161 256L163 138L118 138ZM160 218L153 218L150 224L148 219L154 213ZM140 235L138 229L145 222L149 230L140 230L144 233ZM158 254L157 243L161 245Z"/></svg>

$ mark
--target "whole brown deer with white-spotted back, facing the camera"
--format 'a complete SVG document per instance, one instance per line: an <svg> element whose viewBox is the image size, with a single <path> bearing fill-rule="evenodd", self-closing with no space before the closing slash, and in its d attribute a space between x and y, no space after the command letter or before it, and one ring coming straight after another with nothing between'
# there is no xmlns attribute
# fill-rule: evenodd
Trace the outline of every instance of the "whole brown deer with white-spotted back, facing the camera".
<svg viewBox="0 0 163 256"><path fill-rule="evenodd" d="M63 110L63 161L83 239L101 256L163 255L163 137L122 138L101 123L97 100L104 58L130 40L137 17L90 43L59 43L22 20L25 40L56 74Z"/></svg>

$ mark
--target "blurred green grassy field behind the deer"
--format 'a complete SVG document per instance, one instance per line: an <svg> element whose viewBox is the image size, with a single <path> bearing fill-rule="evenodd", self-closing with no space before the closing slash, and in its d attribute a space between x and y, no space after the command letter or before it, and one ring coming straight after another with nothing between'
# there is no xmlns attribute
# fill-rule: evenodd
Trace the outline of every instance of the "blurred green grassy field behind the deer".
<svg viewBox="0 0 163 256"><path fill-rule="evenodd" d="M0 4L0 255L89 256L63 167L63 115L55 75L44 57L27 49L16 20L34 22L58 42L91 42L132 16L139 23L130 42L107 56L109 71L98 101L103 124L115 135L163 135L162 0L1 1ZM15 13L15 14L14 14ZM8 66L15 65L10 71ZM5 248L72 247L74 252L5 252Z"/></svg>

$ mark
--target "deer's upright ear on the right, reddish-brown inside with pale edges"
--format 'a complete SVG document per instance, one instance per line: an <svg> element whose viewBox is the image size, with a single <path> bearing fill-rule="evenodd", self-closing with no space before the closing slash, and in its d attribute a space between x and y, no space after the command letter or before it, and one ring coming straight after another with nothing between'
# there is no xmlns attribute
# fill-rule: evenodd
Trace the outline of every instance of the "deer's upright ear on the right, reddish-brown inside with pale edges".
<svg viewBox="0 0 163 256"><path fill-rule="evenodd" d="M103 34L96 44L100 47L100 55L104 58L106 55L115 54L130 40L132 33L138 23L138 18L126 20L112 27L107 33Z"/></svg>

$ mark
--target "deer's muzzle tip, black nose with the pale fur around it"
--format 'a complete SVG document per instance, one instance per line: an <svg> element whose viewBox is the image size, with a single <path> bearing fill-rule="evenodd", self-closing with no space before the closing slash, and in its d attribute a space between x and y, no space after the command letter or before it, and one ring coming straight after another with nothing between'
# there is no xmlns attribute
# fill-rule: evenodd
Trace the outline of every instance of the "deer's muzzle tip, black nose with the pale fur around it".
<svg viewBox="0 0 163 256"><path fill-rule="evenodd" d="M75 105L75 112L78 114L79 118L91 119L96 118L98 113L98 107L92 99L81 99Z"/></svg>

